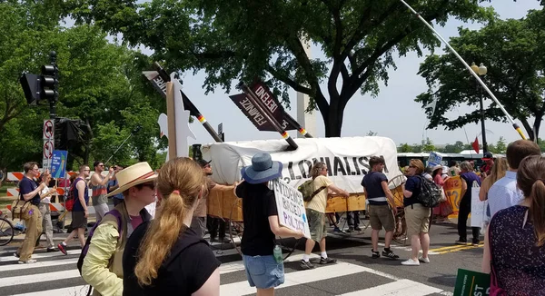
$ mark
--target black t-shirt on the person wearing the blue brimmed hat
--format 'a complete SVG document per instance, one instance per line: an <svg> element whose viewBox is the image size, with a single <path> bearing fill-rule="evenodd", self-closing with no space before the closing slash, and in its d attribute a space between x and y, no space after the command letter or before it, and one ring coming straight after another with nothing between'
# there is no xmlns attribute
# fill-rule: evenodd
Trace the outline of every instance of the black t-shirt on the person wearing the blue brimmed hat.
<svg viewBox="0 0 545 296"><path fill-rule="evenodd" d="M236 196L243 199L243 254L272 255L274 233L271 231L269 216L278 215L274 192L264 184L243 182L236 187Z"/></svg>

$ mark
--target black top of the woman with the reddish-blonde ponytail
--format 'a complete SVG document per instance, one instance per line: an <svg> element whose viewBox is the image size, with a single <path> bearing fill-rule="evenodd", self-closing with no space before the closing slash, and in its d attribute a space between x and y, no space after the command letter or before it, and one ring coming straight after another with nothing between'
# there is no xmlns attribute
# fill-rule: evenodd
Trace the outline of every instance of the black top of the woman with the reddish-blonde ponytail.
<svg viewBox="0 0 545 296"><path fill-rule="evenodd" d="M151 222L138 226L127 241L123 255L123 294L134 295L191 295L203 287L204 282L221 264L206 241L187 228L174 243L157 272L157 278L144 288L138 284L134 267L137 253Z"/></svg>

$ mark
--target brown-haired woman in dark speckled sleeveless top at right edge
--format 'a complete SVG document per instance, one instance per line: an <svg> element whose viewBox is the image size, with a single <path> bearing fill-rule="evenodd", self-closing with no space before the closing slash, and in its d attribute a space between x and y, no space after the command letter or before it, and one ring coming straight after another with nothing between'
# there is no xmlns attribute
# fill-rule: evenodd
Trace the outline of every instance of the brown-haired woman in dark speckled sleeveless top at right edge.
<svg viewBox="0 0 545 296"><path fill-rule="evenodd" d="M528 156L517 172L519 205L497 212L484 241L482 271L490 295L543 295L545 291L545 157Z"/></svg>

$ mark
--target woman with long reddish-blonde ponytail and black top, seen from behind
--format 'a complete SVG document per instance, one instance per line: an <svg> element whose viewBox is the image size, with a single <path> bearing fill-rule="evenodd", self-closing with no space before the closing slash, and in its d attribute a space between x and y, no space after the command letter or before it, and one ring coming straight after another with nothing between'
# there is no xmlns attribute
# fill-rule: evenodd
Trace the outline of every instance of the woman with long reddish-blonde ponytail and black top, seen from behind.
<svg viewBox="0 0 545 296"><path fill-rule="evenodd" d="M124 295L220 294L220 261L189 227L205 182L201 166L189 158L163 164L155 218L138 227L125 247Z"/></svg>

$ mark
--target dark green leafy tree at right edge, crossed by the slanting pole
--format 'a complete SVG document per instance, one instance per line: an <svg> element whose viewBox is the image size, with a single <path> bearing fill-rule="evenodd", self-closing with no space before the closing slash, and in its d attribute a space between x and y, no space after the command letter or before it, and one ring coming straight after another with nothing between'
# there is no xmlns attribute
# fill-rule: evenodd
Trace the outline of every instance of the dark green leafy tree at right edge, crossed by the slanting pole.
<svg viewBox="0 0 545 296"><path fill-rule="evenodd" d="M460 28L460 36L452 37L450 42L465 61L483 63L488 67L484 82L508 113L520 120L531 140L538 138L545 114L543 20L545 11L534 10L520 20L496 19L479 31ZM443 125L452 130L481 119L478 106L481 97L488 99L488 94L481 92L481 86L453 54L428 56L421 64L419 74L426 79L429 90L418 95L415 101L423 106L437 101L432 116L431 108L426 110L430 118L428 128ZM458 118L446 118L445 113L459 104L477 108ZM494 121L506 121L496 104L490 104L485 116ZM530 123L530 118L534 118L533 123Z"/></svg>

